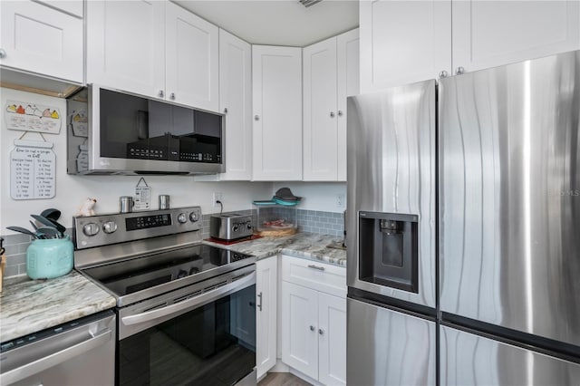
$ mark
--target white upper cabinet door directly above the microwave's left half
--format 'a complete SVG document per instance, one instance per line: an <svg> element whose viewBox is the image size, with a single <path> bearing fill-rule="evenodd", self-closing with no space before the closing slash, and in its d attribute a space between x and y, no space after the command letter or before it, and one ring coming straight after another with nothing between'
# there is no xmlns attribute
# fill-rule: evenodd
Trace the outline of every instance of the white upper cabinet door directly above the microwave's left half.
<svg viewBox="0 0 580 386"><path fill-rule="evenodd" d="M165 2L88 1L87 82L165 92Z"/></svg>

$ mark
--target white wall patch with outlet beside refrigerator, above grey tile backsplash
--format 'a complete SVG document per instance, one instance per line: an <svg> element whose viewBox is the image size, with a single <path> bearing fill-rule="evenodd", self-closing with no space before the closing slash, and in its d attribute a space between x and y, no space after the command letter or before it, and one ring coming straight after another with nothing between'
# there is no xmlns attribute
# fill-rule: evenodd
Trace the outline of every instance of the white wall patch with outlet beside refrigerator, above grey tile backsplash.
<svg viewBox="0 0 580 386"><path fill-rule="evenodd" d="M346 182L275 182L274 192L283 187L303 198L298 209L342 213L346 208ZM336 205L337 195L343 196L343 207Z"/></svg>

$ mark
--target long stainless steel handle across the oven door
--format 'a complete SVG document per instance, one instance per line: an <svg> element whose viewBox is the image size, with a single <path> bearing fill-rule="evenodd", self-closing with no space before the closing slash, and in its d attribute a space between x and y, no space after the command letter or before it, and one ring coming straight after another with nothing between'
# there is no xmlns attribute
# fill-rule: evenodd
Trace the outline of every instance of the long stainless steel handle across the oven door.
<svg viewBox="0 0 580 386"><path fill-rule="evenodd" d="M148 311L146 313L124 316L121 318L121 322L125 325L150 322L152 320L159 319L164 316L168 316L170 314L179 313L180 311L187 310L189 308L195 308L204 304L211 303L214 300L219 299L220 297L226 296L228 294L233 294L241 289L244 289L254 284L256 284L256 272L252 272L251 274L241 279L237 279L233 283L222 285L216 289L213 289L203 294L199 294L198 296L192 297L182 302L170 304L167 307L158 308L155 310Z"/></svg>

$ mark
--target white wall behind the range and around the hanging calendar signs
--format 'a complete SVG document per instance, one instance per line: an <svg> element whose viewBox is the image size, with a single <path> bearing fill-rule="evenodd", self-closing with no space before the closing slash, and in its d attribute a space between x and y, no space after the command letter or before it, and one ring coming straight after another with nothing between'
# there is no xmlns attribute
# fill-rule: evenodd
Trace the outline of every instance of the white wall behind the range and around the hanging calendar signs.
<svg viewBox="0 0 580 386"><path fill-rule="evenodd" d="M7 130L5 125L6 100L33 101L58 107L66 111L65 101L29 92L0 89L2 100L2 126L0 130L0 234L13 233L5 229L9 226L27 227L31 214L40 214L43 209L55 207L62 212L59 220L65 227L72 227L72 217L86 198L97 198L97 213L119 211L120 196L134 196L137 176L71 176L66 174L66 129L63 126L58 135L44 134L44 138L54 143L56 155L55 197L51 199L14 200L10 197L10 151L14 150L14 139L23 131ZM31 100L32 98L32 100ZM42 140L38 133L28 133L25 140ZM271 182L194 182L192 177L145 176L151 187L151 208L158 207L158 195L169 194L171 207L198 205L204 214L219 212L212 206L212 192L222 192L224 211L252 208L255 199L272 196Z"/></svg>

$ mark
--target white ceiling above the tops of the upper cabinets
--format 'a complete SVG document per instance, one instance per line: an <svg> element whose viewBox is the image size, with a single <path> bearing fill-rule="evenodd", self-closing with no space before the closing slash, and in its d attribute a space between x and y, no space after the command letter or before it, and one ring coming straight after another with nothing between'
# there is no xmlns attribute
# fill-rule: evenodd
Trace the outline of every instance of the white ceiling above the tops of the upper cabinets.
<svg viewBox="0 0 580 386"><path fill-rule="evenodd" d="M253 44L304 47L359 25L358 0L175 0L194 14Z"/></svg>

